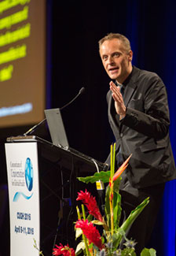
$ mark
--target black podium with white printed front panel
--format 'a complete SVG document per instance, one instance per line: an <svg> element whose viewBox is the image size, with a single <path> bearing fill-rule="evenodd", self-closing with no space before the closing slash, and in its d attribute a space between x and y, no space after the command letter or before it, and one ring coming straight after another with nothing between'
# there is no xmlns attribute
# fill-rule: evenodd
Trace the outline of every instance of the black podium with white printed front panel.
<svg viewBox="0 0 176 256"><path fill-rule="evenodd" d="M60 243L72 239L69 218L75 210L76 177L107 170L108 165L34 135L9 137L5 147L10 255L35 256L38 250L52 255L57 236Z"/></svg>

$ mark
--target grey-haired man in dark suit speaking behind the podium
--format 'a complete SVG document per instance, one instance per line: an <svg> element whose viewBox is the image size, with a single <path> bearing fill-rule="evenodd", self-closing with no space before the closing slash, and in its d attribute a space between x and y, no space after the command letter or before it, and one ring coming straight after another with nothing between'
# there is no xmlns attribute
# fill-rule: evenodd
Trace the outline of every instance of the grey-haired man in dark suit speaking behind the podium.
<svg viewBox="0 0 176 256"><path fill-rule="evenodd" d="M127 234L128 239L136 240L136 252L140 254L152 233L164 185L176 177L167 91L156 73L132 65L133 52L124 35L106 35L99 41L99 51L111 79L108 120L116 138L116 167L132 154L120 184L122 221L150 197L148 206Z"/></svg>

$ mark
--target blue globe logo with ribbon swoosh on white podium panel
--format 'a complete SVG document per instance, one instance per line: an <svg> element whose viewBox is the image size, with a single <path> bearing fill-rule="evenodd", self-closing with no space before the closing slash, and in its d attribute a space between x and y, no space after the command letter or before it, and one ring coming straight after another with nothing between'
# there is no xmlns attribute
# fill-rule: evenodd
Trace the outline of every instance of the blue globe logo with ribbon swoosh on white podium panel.
<svg viewBox="0 0 176 256"><path fill-rule="evenodd" d="M21 179L23 178L23 181L20 181L19 184L21 184L21 186L27 187L27 191L29 192L30 195L25 195L24 192L22 191L17 191L13 197L13 202L18 201L21 195L27 200L29 200L33 195L32 188L34 183L34 170L33 170L33 166L30 158L26 159L24 171L18 172L18 173L20 173L19 175ZM24 182L24 178L25 178L25 182Z"/></svg>

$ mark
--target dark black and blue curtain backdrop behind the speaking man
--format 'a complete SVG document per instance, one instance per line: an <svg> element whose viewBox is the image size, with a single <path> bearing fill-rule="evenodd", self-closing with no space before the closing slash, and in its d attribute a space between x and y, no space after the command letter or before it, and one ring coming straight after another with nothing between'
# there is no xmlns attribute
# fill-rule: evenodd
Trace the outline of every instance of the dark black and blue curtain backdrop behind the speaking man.
<svg viewBox="0 0 176 256"><path fill-rule="evenodd" d="M64 123L72 147L105 161L113 135L108 125L108 76L98 54L98 40L108 32L130 39L133 64L156 72L166 84L170 106L170 139L176 159L176 2L175 1L46 1L47 65L46 107L64 106ZM42 130L42 128L41 128ZM1 132L1 183L6 184L3 143L26 127ZM41 134L40 134L41 132ZM42 131L38 134L43 135ZM44 136L47 136L44 134ZM176 182L167 184L158 221L149 246L159 256L174 256L176 232ZM6 255L6 254L5 254Z"/></svg>

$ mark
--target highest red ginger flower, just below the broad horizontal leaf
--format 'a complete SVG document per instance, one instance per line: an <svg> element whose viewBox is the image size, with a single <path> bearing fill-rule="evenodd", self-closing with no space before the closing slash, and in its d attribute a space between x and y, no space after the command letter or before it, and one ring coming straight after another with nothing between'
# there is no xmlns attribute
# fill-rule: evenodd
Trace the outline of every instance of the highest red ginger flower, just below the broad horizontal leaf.
<svg viewBox="0 0 176 256"><path fill-rule="evenodd" d="M93 215L98 221L103 222L103 217L101 216L101 212L97 206L97 201L93 195L90 195L90 192L88 191L80 191L78 193L77 201L82 200L83 204L87 207L89 210L89 213Z"/></svg>

